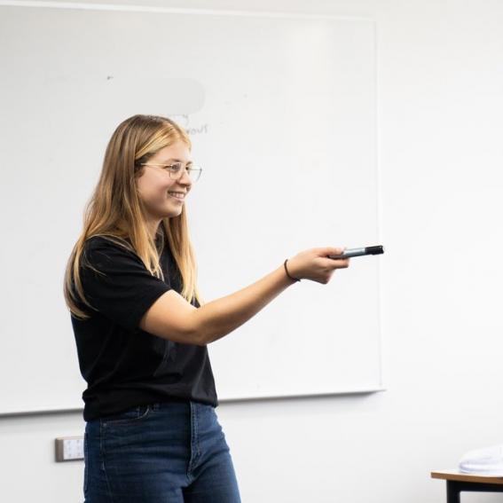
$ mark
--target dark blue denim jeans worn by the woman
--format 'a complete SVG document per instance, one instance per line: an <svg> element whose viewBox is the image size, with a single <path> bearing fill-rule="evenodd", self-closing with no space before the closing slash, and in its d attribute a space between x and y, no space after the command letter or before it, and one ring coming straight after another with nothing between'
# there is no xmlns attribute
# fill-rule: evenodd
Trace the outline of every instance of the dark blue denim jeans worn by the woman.
<svg viewBox="0 0 503 503"><path fill-rule="evenodd" d="M215 407L138 405L86 422L84 503L240 503Z"/></svg>

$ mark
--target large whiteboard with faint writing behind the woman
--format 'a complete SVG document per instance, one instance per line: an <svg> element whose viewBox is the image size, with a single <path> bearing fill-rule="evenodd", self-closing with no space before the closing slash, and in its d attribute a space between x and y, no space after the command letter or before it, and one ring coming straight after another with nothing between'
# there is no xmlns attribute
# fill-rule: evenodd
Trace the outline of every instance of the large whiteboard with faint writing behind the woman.
<svg viewBox="0 0 503 503"><path fill-rule="evenodd" d="M67 4L69 5L69 4ZM82 409L63 298L106 143L167 115L209 302L307 248L381 244L373 20L0 6L0 413ZM381 389L379 258L288 287L208 345L220 401Z"/></svg>

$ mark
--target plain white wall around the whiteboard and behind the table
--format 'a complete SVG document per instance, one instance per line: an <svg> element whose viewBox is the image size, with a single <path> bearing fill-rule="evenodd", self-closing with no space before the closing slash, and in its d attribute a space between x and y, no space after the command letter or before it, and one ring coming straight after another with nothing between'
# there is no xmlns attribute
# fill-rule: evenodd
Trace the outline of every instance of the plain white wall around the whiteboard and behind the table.
<svg viewBox="0 0 503 503"><path fill-rule="evenodd" d="M430 470L455 468L472 448L503 444L497 309L503 274L495 249L503 245L503 3L185 0L183 6L378 20L388 390L220 405L243 501L444 501L444 482L430 479ZM82 432L80 413L0 418L0 498L82 501L83 462L53 460L56 436ZM468 503L499 500L463 495Z"/></svg>

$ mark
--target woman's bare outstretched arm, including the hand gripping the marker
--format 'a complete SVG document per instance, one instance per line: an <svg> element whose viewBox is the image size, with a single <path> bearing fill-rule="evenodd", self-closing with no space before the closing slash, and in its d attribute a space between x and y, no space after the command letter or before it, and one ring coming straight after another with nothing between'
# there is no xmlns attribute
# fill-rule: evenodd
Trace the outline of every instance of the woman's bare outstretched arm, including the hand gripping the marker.
<svg viewBox="0 0 503 503"><path fill-rule="evenodd" d="M343 250L334 247L310 248L288 260L288 272L294 278L326 284L336 269L349 267L348 258L338 260L326 257L340 255ZM188 303L175 290L169 290L147 310L140 328L174 342L206 345L230 334L253 318L295 282L288 278L281 264L252 285L200 308Z"/></svg>

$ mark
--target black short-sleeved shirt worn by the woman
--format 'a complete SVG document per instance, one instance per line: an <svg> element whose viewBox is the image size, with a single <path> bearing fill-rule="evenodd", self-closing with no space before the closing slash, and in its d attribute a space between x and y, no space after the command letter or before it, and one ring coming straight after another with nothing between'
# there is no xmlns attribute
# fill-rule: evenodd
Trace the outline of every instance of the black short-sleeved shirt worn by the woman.
<svg viewBox="0 0 503 503"><path fill-rule="evenodd" d="M87 263L106 274L99 275L81 260L84 294L98 311L79 303L90 318L71 315L79 366L88 384L83 392L86 421L173 399L218 405L207 346L168 341L138 327L161 295L171 288L182 291L168 240L162 234L156 242L162 247L164 281L153 276L138 255L106 237L94 236L85 243ZM193 305L200 307L195 299Z"/></svg>

